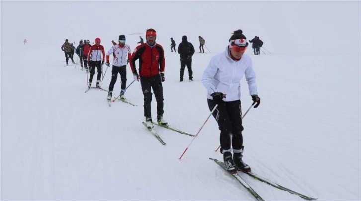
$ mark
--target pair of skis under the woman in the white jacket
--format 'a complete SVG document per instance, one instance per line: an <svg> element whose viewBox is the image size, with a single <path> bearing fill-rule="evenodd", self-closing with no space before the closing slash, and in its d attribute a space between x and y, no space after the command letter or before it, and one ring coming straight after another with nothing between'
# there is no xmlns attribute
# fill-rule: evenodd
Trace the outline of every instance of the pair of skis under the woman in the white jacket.
<svg viewBox="0 0 361 201"><path fill-rule="evenodd" d="M230 173L230 172L225 168L223 162L221 162L221 161L219 161L219 160L217 160L217 159L213 159L213 158L209 158L209 159L210 159L210 160L213 160L214 162L216 162L216 163L217 163L219 166L221 166L227 173L229 173L234 179L236 179L236 181L239 182L250 194L252 194L252 196L255 197L256 200L258 200L258 201L264 201L263 198L261 198L261 196L258 195L257 192L256 192L255 190L253 190L252 187L251 187L250 185L248 185L247 182L246 182L245 180L243 180L242 177L241 177L238 173L232 174L232 173ZM288 188L286 188L286 187L284 187L284 186L281 186L281 185L279 185L279 184L277 184L277 183L275 183L275 182L272 182L272 181L270 181L270 180L268 180L268 179L266 179L266 178L263 178L263 177L255 174L255 173L253 173L253 172L244 172L244 173L247 174L247 175L249 175L250 177L258 180L258 181L264 182L264 183L266 183L266 184L268 184L268 185L271 185L271 186L273 186L273 187L275 187L275 188L277 188L277 189L280 189L280 190L283 190L283 191L287 191L287 192L289 192L289 193L291 193L291 194L295 194L295 195L297 195L297 196L299 196L299 197L301 197L301 198L303 198L303 199L305 199L305 200L310 200L310 201L311 201L311 200L316 200L316 199L317 199L317 198L311 198L311 197L309 197L309 196L305 196L305 195L303 195L303 194L301 194L301 193L295 192L295 191L293 191L293 190L291 190L291 189L288 189Z"/></svg>

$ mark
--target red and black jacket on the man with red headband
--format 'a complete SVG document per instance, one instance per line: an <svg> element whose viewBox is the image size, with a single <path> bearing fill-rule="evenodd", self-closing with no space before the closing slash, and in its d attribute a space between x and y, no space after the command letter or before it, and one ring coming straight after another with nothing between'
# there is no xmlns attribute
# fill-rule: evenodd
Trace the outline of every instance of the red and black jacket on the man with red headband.
<svg viewBox="0 0 361 201"><path fill-rule="evenodd" d="M165 61L163 47L156 43L150 47L147 43L135 48L130 62L130 68L133 73L137 73L135 61L139 59L139 76L153 77L164 73Z"/></svg>

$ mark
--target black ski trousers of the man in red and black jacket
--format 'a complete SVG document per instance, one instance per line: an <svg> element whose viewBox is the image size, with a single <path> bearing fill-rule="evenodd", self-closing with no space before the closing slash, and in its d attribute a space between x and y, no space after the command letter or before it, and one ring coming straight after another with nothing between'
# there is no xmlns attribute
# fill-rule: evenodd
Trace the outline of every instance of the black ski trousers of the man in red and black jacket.
<svg viewBox="0 0 361 201"><path fill-rule="evenodd" d="M163 115L163 86L161 76L158 74L153 77L140 77L140 84L144 96L144 117L152 117L152 89L157 101L157 115Z"/></svg>

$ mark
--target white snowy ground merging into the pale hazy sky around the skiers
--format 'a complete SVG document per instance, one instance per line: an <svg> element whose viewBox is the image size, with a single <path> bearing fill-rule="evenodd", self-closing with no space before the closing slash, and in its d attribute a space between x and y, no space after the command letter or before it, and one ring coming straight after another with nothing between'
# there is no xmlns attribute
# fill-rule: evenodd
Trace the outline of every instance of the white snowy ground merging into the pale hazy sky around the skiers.
<svg viewBox="0 0 361 201"><path fill-rule="evenodd" d="M254 173L319 201L361 200L360 1L0 5L1 201L255 200L209 160L223 161L223 156L215 152L215 119L204 124L210 111L203 71L237 29L249 40L259 36L264 42L261 55L250 47L245 53L253 62L261 104L243 119L244 161ZM89 10L89 16L80 10ZM193 138L155 127L166 142L162 145L147 131L139 82L126 92L137 106L116 101L109 107L107 92L84 93L87 74L79 64L64 66L60 47L65 39L77 46L99 37L107 51L124 34L134 50L149 28L157 31L157 43L165 50L165 119L193 135L204 124L181 160ZM206 54L193 55L193 82L187 70L179 82L180 55L170 50L170 38L177 49L183 35L196 53L198 36L206 40ZM128 86L133 76L127 67ZM110 72L101 84L106 90ZM114 96L119 82L118 76ZM244 113L252 104L245 80L241 102ZM303 200L240 175L264 200Z"/></svg>

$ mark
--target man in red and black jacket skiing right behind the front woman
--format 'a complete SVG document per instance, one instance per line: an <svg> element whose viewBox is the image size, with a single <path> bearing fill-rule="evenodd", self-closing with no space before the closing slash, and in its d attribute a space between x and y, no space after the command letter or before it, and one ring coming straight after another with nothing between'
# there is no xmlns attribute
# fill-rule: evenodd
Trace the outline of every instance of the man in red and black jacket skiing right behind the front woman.
<svg viewBox="0 0 361 201"><path fill-rule="evenodd" d="M163 47L156 43L157 33L154 29L146 31L146 43L139 45L134 49L131 56L130 67L134 79L142 85L144 95L144 116L148 128L153 128L151 102L152 90L157 101L157 122L158 124L167 125L163 119L163 86L164 78L164 50ZM139 59L139 74L135 66L135 61Z"/></svg>

